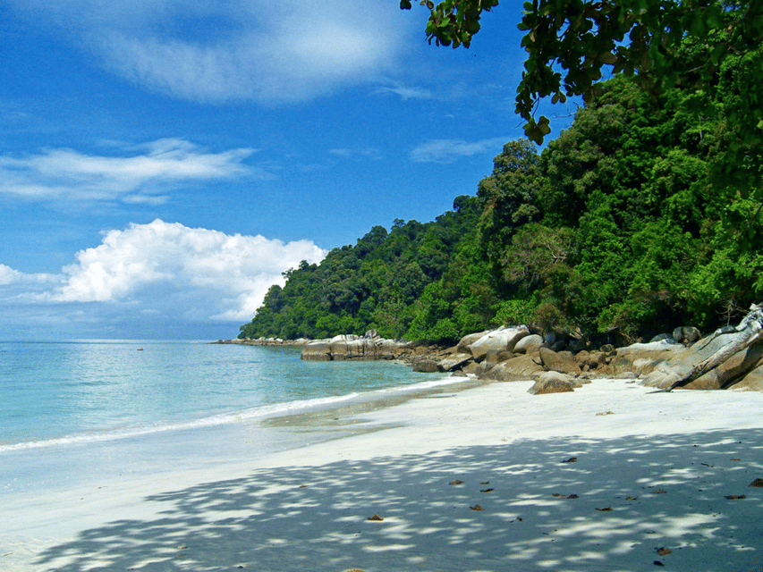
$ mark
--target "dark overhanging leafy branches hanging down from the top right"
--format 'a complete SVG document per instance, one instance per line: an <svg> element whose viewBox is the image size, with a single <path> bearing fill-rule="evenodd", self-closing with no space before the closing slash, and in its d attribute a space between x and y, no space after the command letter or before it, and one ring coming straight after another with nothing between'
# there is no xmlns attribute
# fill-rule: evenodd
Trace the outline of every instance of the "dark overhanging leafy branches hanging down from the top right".
<svg viewBox="0 0 763 572"><path fill-rule="evenodd" d="M479 32L483 12L497 0L422 0L431 13L429 42L469 47ZM411 9L409 0L400 7ZM710 89L727 58L735 64L763 43L763 3L759 0L532 0L525 2L518 28L527 51L517 87L516 111L527 122L527 136L542 143L549 120L534 112L538 101L551 97L586 99L601 93L606 71L634 77L651 92L674 86ZM759 58L751 63L749 80L763 82ZM605 69L608 66L608 70ZM561 69L561 71L560 71ZM698 105L702 102L698 102ZM761 119L758 98L740 110L740 122L752 130ZM757 113L750 113L757 110Z"/></svg>

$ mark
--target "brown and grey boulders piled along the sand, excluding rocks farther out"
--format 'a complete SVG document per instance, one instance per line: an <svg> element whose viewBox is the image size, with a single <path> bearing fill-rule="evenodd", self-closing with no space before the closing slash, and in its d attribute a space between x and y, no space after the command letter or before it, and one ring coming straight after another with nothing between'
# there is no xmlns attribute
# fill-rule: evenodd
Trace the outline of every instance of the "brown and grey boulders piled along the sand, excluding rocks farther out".
<svg viewBox="0 0 763 572"><path fill-rule="evenodd" d="M574 339L543 338L519 326L473 333L454 348L409 361L416 371L474 374L502 382L535 380L529 390L533 394L573 391L594 377L640 379L644 385L668 389L691 367L727 347L736 335L731 327L700 339L696 328L686 326L647 343L573 351ZM763 342L734 354L684 387L763 391Z"/></svg>

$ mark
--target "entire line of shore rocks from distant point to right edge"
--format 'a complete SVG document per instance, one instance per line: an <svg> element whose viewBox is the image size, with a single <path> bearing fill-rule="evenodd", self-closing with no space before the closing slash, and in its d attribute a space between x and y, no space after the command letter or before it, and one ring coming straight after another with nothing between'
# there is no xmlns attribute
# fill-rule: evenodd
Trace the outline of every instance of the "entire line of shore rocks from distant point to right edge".
<svg viewBox="0 0 763 572"><path fill-rule="evenodd" d="M387 340L375 330L364 336L338 335L324 340L257 340L218 343L299 345L301 358L310 361L402 359L419 372L473 374L501 382L534 380L530 393L573 391L594 377L639 379L640 383L669 389L702 360L728 348L740 330L734 327L701 339L691 326L657 336L647 343L615 349L606 344L586 348L579 337L545 337L524 325L466 335L453 348ZM763 341L725 359L707 374L684 385L686 389L745 389L763 391Z"/></svg>

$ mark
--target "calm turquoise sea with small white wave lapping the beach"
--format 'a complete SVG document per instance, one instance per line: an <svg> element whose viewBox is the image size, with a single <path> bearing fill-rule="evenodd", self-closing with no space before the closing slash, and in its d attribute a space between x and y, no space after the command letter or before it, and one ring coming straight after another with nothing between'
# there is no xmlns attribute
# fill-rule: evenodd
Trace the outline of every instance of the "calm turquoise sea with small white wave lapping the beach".
<svg viewBox="0 0 763 572"><path fill-rule="evenodd" d="M301 447L337 433L273 420L454 381L394 362L305 362L292 347L0 342L0 497Z"/></svg>

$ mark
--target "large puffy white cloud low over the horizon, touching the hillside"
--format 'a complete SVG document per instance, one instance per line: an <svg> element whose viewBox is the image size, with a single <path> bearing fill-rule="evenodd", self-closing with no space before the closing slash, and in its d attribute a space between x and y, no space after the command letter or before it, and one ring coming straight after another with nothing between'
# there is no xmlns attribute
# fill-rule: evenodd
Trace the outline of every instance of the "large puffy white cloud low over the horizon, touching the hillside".
<svg viewBox="0 0 763 572"><path fill-rule="evenodd" d="M284 243L157 219L106 232L100 245L77 253L61 285L41 299L131 305L179 321L241 322L271 285L284 284L284 270L325 256L309 240Z"/></svg>

